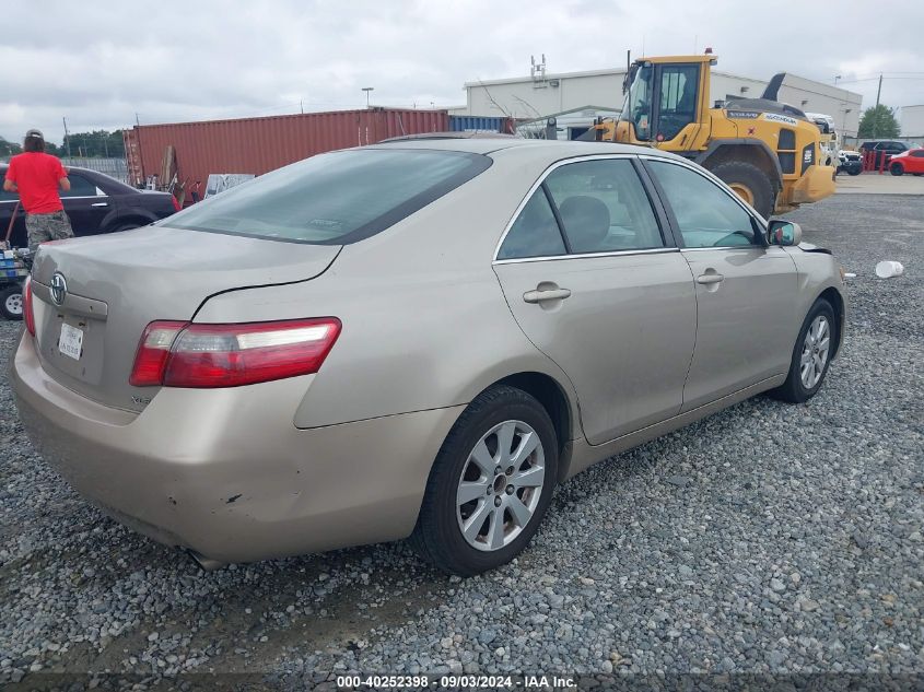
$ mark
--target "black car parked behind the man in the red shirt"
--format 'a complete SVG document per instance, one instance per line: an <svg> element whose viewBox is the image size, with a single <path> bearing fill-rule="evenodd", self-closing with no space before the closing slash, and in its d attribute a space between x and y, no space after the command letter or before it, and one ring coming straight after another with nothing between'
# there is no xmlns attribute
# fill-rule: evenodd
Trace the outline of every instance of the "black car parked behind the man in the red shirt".
<svg viewBox="0 0 924 692"><path fill-rule="evenodd" d="M20 199L15 192L2 189L7 168L7 164L0 164L0 241L10 226L10 216ZM176 198L168 192L137 190L95 171L69 166L68 178L71 189L67 192L59 190L59 193L77 236L138 228L179 211ZM25 247L27 244L25 213L21 207L10 246Z"/></svg>

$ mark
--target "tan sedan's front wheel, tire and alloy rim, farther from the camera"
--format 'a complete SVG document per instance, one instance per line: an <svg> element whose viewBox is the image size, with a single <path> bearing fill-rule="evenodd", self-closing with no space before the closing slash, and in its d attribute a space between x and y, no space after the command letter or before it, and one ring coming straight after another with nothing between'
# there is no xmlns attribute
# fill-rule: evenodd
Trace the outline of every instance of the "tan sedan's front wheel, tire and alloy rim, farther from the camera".
<svg viewBox="0 0 924 692"><path fill-rule="evenodd" d="M834 308L824 298L818 298L799 329L786 382L773 389L771 396L802 403L818 392L831 364L838 328Z"/></svg>

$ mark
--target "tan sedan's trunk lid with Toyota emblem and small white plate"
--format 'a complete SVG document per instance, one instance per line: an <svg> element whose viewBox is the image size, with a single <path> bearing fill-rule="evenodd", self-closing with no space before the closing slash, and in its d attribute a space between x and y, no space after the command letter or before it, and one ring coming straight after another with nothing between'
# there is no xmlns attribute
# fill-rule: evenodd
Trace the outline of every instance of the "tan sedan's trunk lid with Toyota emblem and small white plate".
<svg viewBox="0 0 924 692"><path fill-rule="evenodd" d="M33 267L42 365L94 401L140 411L157 391L128 383L148 324L191 320L217 293L313 279L340 247L167 226L43 245Z"/></svg>

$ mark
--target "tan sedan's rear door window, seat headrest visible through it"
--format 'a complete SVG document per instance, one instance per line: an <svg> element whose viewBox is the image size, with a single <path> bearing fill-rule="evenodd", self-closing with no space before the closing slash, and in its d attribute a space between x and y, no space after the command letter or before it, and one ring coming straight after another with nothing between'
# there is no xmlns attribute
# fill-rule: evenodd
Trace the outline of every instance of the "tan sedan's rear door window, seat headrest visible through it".
<svg viewBox="0 0 924 692"><path fill-rule="evenodd" d="M568 164L555 168L546 185L572 253L664 247L652 204L628 159Z"/></svg>

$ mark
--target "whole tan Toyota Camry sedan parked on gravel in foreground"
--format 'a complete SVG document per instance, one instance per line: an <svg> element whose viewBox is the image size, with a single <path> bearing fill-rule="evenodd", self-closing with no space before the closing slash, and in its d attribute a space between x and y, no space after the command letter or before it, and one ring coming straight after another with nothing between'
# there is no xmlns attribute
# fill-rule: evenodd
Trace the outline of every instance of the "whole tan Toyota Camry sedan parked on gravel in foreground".
<svg viewBox="0 0 924 692"><path fill-rule="evenodd" d="M412 536L503 564L557 483L815 395L840 267L680 157L401 141L44 246L12 364L44 457L201 564Z"/></svg>

